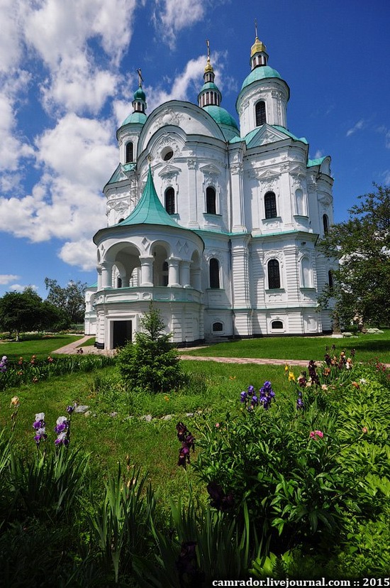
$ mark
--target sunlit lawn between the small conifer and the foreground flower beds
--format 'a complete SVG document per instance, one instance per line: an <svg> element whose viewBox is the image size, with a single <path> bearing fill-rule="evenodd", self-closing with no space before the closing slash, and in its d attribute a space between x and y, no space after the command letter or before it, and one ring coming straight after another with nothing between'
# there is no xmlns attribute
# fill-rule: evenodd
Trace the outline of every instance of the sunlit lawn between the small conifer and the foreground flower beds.
<svg viewBox="0 0 390 588"><path fill-rule="evenodd" d="M226 366L213 361L185 361L183 368L204 378L207 388L190 393L138 394L129 398L118 388L117 371L111 367L88 374L55 377L17 390L9 389L2 395L0 425L10 425L12 410L9 403L17 394L20 407L14 442L34 452L32 423L35 413L45 413L47 443L53 443L55 422L65 414L66 406L74 401L87 405L89 416L72 415L72 446L91 455L96 484L101 484L104 472L114 471L118 462L125 464L128 455L131 465L148 472L153 488L160 493L168 508L169 497L186 495L187 484L193 478L191 469L184 472L177 467L177 422L182 420L189 430L195 430L196 422L203 422L203 414L216 423L224 420L227 411L234 413L238 410L240 391L250 383L258 388L269 379L279 393L286 387L284 369L280 366ZM194 413L194 416L187 416L187 413ZM132 418L128 418L130 414ZM140 418L144 415L152 415L152 421ZM172 415L172 418L164 420L164 415Z"/></svg>

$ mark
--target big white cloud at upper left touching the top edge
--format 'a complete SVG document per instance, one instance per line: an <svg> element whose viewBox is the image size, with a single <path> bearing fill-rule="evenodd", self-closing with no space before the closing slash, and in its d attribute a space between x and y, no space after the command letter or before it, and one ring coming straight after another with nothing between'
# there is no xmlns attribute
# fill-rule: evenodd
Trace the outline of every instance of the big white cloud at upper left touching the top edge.
<svg viewBox="0 0 390 588"><path fill-rule="evenodd" d="M97 114L116 93L117 68L130 43L135 0L43 0L30 4L26 42L48 67L41 83L48 111ZM99 43L99 53L89 42Z"/></svg>

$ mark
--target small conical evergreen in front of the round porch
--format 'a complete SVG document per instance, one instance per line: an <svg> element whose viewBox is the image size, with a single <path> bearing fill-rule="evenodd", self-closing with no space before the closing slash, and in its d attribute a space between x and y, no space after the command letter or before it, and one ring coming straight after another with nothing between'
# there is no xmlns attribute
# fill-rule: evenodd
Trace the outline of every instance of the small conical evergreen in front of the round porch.
<svg viewBox="0 0 390 588"><path fill-rule="evenodd" d="M117 362L126 386L137 391L169 392L182 386L184 376L177 349L165 333L160 311L150 304L141 319L143 332L135 334L135 344L129 343L118 353Z"/></svg>

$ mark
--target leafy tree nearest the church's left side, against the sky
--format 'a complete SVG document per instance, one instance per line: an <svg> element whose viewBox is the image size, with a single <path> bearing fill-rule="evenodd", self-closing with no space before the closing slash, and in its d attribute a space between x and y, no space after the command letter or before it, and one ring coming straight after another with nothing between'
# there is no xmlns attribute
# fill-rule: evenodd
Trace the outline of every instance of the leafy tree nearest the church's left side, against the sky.
<svg viewBox="0 0 390 588"><path fill-rule="evenodd" d="M57 280L45 278L46 290L49 290L49 303L60 308L69 318L69 322L84 322L85 290L87 284L71 280L62 288Z"/></svg>

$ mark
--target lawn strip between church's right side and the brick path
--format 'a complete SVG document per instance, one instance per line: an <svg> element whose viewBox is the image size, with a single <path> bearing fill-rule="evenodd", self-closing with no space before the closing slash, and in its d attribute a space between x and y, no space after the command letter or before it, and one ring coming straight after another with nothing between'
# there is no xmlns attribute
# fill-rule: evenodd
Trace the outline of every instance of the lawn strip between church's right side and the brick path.
<svg viewBox="0 0 390 588"><path fill-rule="evenodd" d="M350 349L356 350L358 361L379 358L390 363L390 330L384 334L360 334L353 338L335 337L262 337L259 339L239 339L213 344L202 349L186 349L191 356L247 357L265 359L315 359L321 361L325 347L335 345L335 354Z"/></svg>

